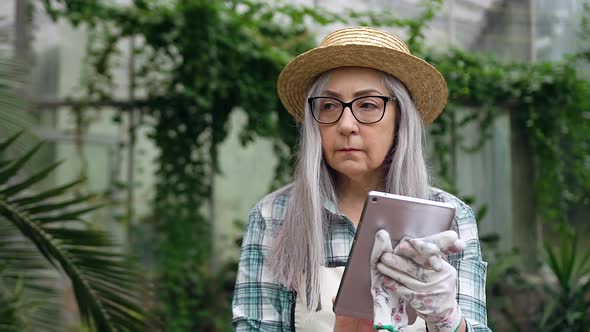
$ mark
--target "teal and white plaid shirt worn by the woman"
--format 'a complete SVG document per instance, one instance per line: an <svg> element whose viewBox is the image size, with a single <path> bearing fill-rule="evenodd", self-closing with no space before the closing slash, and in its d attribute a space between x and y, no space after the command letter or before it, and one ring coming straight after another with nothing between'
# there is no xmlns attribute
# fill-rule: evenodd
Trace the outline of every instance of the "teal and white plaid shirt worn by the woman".
<svg viewBox="0 0 590 332"><path fill-rule="evenodd" d="M240 264L232 303L234 331L295 331L295 291L279 284L266 264L272 242L279 231L289 201L290 189L266 196L250 214L242 243ZM432 189L431 199L455 205L452 229L467 244L450 255L457 269L457 301L468 331L490 331L487 327L485 278L477 225L471 208L458 198ZM324 234L326 266L344 266L355 235L355 226L333 206L326 206L330 227Z"/></svg>

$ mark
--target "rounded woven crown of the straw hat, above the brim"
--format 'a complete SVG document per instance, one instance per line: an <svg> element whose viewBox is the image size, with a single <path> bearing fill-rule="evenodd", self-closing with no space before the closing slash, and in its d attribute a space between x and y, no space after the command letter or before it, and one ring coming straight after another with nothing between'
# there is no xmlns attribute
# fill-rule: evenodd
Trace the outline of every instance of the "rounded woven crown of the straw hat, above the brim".
<svg viewBox="0 0 590 332"><path fill-rule="evenodd" d="M336 30L327 35L320 47L339 45L367 45L384 47L411 54L406 44L387 31L369 27L352 27Z"/></svg>

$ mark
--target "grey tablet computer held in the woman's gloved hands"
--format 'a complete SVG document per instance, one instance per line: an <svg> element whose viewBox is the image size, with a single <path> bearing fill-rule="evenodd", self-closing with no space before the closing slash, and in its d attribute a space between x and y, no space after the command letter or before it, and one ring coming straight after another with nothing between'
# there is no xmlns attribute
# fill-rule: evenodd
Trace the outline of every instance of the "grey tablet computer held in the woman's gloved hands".
<svg viewBox="0 0 590 332"><path fill-rule="evenodd" d="M442 202L371 191L367 195L348 263L338 288L336 315L373 319L370 258L375 233L385 229L392 247L404 237L434 235L450 229L454 206ZM410 322L415 312L408 308Z"/></svg>

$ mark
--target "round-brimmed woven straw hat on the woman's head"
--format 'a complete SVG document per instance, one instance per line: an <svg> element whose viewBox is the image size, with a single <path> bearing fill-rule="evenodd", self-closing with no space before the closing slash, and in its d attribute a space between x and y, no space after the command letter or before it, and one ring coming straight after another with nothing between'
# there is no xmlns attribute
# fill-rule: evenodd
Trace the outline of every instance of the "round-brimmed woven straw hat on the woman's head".
<svg viewBox="0 0 590 332"><path fill-rule="evenodd" d="M305 97L313 80L327 70L350 66L375 68L403 82L425 124L442 112L447 101L442 75L410 54L398 37L380 29L350 27L330 33L320 46L285 66L277 82L281 102L302 122Z"/></svg>

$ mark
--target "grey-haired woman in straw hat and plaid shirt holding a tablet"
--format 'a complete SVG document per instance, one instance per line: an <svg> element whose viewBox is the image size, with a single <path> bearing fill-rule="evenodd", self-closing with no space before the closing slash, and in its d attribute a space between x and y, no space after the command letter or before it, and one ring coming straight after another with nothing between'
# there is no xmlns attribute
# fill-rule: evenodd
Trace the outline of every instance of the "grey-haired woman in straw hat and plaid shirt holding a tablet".
<svg viewBox="0 0 590 332"><path fill-rule="evenodd" d="M380 256L379 273L419 317L413 325L387 329L488 331L486 263L473 212L430 186L423 153L424 125L446 103L440 73L396 36L351 27L291 61L278 91L301 123L298 164L294 182L250 214L233 298L234 330L372 330L372 322L335 317L332 301L367 193L379 190L454 205L452 230L465 244L438 269L415 253ZM427 272L429 282L407 266Z"/></svg>

